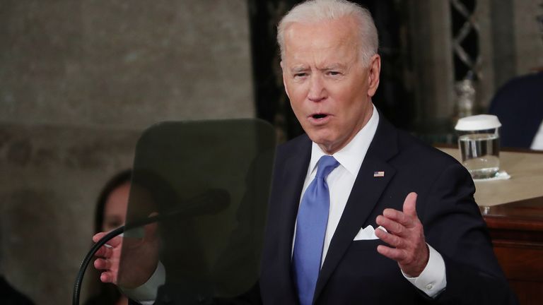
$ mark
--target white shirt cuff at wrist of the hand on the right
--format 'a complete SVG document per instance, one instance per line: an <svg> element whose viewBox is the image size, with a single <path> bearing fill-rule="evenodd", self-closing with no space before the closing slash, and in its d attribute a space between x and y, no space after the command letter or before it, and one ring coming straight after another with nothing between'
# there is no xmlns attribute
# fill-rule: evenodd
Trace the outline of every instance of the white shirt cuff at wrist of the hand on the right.
<svg viewBox="0 0 543 305"><path fill-rule="evenodd" d="M429 244L428 263L418 277L409 277L402 270L402 275L415 287L421 289L428 297L437 297L445 287L447 287L447 277L445 276L445 261L441 254L433 249Z"/></svg>

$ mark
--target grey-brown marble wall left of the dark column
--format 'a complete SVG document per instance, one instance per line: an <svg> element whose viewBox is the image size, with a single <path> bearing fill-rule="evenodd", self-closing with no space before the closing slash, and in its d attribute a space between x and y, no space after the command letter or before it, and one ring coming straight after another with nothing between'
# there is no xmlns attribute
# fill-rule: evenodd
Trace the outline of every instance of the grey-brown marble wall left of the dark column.
<svg viewBox="0 0 543 305"><path fill-rule="evenodd" d="M0 3L4 275L68 304L103 183L164 120L255 116L247 4Z"/></svg>

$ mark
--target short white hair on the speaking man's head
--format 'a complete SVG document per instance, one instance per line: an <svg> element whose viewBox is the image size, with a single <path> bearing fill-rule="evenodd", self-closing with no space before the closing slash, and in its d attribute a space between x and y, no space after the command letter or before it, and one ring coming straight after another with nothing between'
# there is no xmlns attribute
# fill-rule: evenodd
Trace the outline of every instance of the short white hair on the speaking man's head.
<svg viewBox="0 0 543 305"><path fill-rule="evenodd" d="M370 64L371 56L377 54L379 46L377 28L375 28L375 23L373 23L373 18L367 8L346 0L309 0L294 6L277 26L277 43L281 49L281 59L284 57L284 32L288 25L292 23L311 24L346 16L352 16L356 20L361 42L361 59L364 64Z"/></svg>

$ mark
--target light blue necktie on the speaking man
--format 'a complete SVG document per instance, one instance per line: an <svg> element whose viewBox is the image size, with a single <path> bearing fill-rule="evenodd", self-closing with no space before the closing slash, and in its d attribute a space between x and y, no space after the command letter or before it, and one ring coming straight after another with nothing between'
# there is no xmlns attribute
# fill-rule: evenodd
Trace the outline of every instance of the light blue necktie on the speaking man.
<svg viewBox="0 0 543 305"><path fill-rule="evenodd" d="M317 176L305 190L298 208L292 265L301 305L310 305L315 294L330 208L326 177L338 165L332 156L320 157Z"/></svg>

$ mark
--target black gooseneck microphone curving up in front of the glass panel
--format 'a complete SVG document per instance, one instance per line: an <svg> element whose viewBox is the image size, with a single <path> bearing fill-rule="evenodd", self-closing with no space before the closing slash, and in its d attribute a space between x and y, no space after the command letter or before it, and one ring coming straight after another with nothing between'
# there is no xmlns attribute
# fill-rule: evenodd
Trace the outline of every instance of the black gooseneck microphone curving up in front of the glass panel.
<svg viewBox="0 0 543 305"><path fill-rule="evenodd" d="M116 237L119 234L124 233L128 229L134 229L137 227L144 227L153 222L158 222L160 220L166 220L173 217L195 217L202 215L215 215L222 210L228 208L230 205L230 194L228 191L223 189L209 189L199 196L195 196L186 201L187 204L183 205L177 210L170 211L168 213L158 214L151 217L146 217L141 220L136 220L134 222L129 222L127 225L118 227L117 229L112 230L111 232L105 234L99 241L94 244L90 251L88 251L83 262L81 262L81 267L76 277L76 283L74 284L74 294L72 298L73 305L79 305L79 295L81 294L81 283L83 282L83 276L89 263L91 263L94 254L107 243L113 237Z"/></svg>

